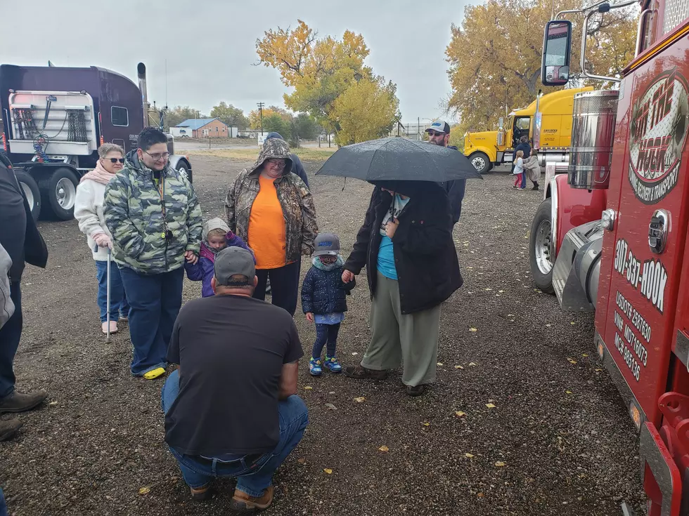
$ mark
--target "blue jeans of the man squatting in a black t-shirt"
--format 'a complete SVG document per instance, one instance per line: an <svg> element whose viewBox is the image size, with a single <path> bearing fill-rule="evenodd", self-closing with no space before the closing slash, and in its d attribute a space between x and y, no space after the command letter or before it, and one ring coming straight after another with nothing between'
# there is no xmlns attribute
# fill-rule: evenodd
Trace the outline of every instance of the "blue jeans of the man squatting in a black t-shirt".
<svg viewBox="0 0 689 516"><path fill-rule="evenodd" d="M167 414L179 394L179 371L174 371L162 387L162 410ZM237 477L237 489L249 496L262 496L271 486L273 474L295 449L309 423L309 411L299 396L278 402L280 441L272 451L253 460L246 456L208 458L179 453L172 446L170 452L177 459L184 482L193 489L204 487L214 478Z"/></svg>

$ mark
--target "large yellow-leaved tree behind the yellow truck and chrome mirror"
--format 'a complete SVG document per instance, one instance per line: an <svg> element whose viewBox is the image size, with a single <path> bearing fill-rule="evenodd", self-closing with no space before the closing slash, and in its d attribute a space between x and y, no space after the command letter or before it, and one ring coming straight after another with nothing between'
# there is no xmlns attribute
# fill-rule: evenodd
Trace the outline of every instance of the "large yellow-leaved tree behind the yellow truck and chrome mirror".
<svg viewBox="0 0 689 516"><path fill-rule="evenodd" d="M555 12L580 8L581 0L556 0ZM551 15L550 2L488 0L469 6L461 27L453 25L446 49L452 95L448 102L463 128L495 128L506 112L529 105L541 86L543 29ZM633 55L636 11L595 15L589 25L587 62L598 74L619 74ZM581 48L581 17L572 16L572 71ZM600 84L600 83L598 83ZM600 87L600 86L598 86Z"/></svg>

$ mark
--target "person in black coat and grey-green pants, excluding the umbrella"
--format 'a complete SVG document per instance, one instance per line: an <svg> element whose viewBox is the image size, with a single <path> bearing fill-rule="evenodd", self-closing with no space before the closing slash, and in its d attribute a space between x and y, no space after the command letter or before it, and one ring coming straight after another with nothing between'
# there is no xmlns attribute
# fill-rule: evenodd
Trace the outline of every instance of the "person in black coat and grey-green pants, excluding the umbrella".
<svg viewBox="0 0 689 516"><path fill-rule="evenodd" d="M452 241L450 204L434 183L382 181L345 263L351 282L366 265L371 289L371 342L349 378L387 378L404 364L410 396L434 383L440 305L462 286Z"/></svg>

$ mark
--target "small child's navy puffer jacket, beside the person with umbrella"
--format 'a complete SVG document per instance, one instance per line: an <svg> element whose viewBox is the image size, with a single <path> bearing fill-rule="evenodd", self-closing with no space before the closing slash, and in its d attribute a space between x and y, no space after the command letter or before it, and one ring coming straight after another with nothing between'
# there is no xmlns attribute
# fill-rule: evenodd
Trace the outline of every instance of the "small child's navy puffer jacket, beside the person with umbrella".
<svg viewBox="0 0 689 516"><path fill-rule="evenodd" d="M302 283L302 310L304 313L337 314L347 312L347 296L355 282L343 283L343 267L321 270L311 267Z"/></svg>

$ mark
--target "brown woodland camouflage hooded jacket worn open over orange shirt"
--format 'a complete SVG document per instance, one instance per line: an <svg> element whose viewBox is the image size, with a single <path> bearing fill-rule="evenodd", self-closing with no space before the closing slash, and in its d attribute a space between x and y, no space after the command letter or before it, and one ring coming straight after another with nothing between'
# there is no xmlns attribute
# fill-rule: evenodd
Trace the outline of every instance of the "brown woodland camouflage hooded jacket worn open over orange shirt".
<svg viewBox="0 0 689 516"><path fill-rule="evenodd" d="M318 234L318 226L314 198L311 197L311 192L304 181L292 173L290 147L285 140L278 140L278 138L266 140L256 163L239 173L227 192L225 214L230 229L251 246L249 242L251 206L259 192L261 168L266 159L270 158L286 160L285 171L274 184L285 216L287 236L285 259L287 263L290 263L296 261L302 254L310 255L314 252L314 239Z"/></svg>

